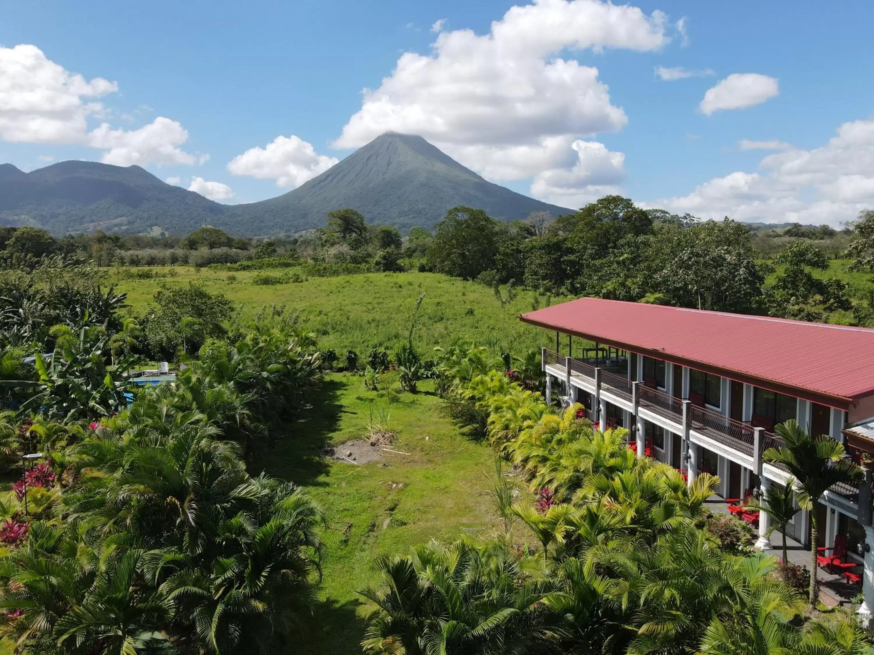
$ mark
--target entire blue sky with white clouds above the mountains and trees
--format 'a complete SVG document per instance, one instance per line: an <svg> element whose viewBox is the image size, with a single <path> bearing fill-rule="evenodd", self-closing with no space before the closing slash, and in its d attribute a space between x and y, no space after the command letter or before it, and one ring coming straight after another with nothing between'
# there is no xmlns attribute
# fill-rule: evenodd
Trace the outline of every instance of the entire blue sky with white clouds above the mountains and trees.
<svg viewBox="0 0 874 655"><path fill-rule="evenodd" d="M396 131L563 207L840 226L874 208L872 22L862 0L0 0L0 162L248 203Z"/></svg>

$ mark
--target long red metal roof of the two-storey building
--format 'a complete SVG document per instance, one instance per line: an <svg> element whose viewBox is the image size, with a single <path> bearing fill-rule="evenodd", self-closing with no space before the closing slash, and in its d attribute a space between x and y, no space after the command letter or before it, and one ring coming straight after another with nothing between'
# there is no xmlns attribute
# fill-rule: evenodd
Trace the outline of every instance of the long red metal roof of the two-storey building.
<svg viewBox="0 0 874 655"><path fill-rule="evenodd" d="M808 400L874 393L874 329L580 298L521 321ZM697 366L696 366L697 364ZM827 396L827 397L822 397Z"/></svg>

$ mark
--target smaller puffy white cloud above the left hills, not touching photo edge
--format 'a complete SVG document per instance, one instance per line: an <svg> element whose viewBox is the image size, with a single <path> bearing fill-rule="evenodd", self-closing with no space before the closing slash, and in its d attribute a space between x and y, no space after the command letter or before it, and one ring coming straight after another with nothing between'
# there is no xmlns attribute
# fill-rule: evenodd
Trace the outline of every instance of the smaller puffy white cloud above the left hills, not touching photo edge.
<svg viewBox="0 0 874 655"><path fill-rule="evenodd" d="M103 123L88 136L89 145L106 150L101 162L115 166L195 162L194 155L179 148L188 141L188 132L177 121L163 116L134 130L112 129Z"/></svg>

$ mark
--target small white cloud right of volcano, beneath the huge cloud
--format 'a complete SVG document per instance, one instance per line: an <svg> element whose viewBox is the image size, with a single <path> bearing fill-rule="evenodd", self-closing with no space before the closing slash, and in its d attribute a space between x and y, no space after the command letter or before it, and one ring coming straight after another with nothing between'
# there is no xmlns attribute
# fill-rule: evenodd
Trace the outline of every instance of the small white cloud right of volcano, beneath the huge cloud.
<svg viewBox="0 0 874 655"><path fill-rule="evenodd" d="M597 141L574 141L577 162L572 169L547 169L538 173L531 192L546 202L581 207L601 196L619 193L625 177L625 155L611 152Z"/></svg>

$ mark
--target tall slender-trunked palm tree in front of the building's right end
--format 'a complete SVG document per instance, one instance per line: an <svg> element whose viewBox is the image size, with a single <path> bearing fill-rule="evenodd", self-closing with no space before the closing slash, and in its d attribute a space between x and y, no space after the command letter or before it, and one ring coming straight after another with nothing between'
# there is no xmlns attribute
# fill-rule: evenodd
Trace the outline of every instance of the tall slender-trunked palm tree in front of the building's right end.
<svg viewBox="0 0 874 655"><path fill-rule="evenodd" d="M783 465L797 480L796 497L801 509L810 512L810 610L816 610L819 599L819 580L816 566L816 540L819 525L816 503L832 486L838 483L858 484L863 473L859 466L844 458L843 445L827 435L812 437L794 419L775 428L783 445L768 448L762 458L771 464Z"/></svg>

